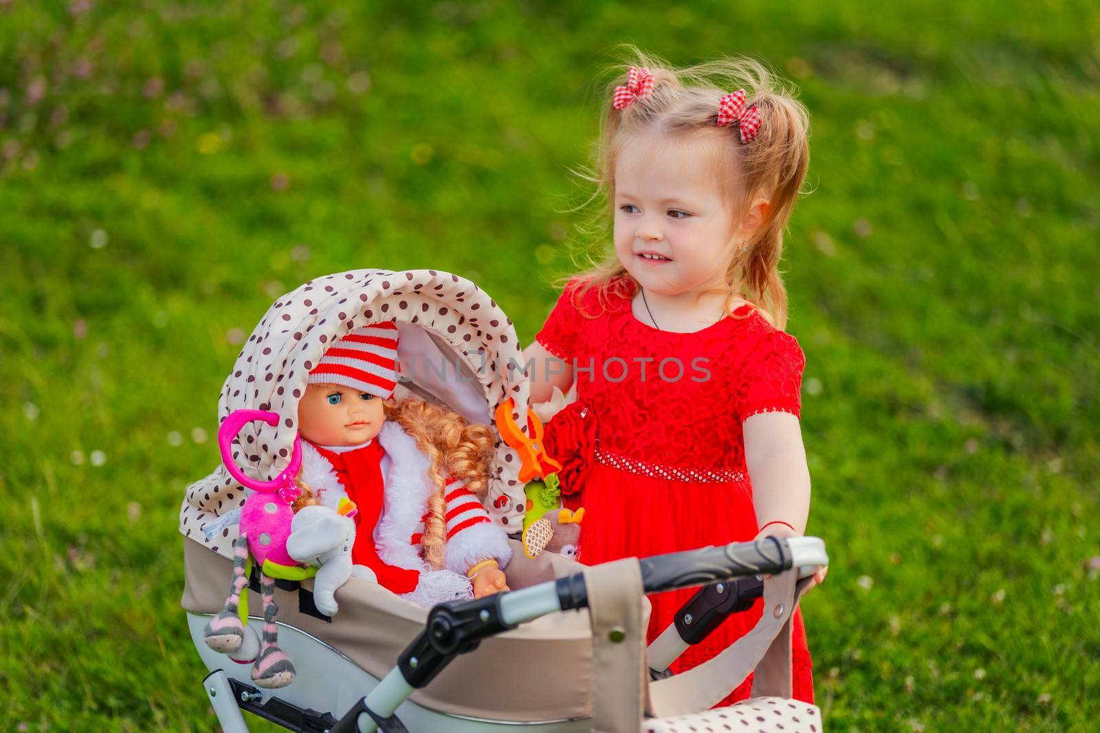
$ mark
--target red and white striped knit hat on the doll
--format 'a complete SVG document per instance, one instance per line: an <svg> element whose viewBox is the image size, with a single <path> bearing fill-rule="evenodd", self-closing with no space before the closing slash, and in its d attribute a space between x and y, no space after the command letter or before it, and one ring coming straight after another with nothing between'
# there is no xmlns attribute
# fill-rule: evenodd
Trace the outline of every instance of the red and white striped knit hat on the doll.
<svg viewBox="0 0 1100 733"><path fill-rule="evenodd" d="M310 385L343 385L389 399L397 386L397 324L355 329L324 352L309 373Z"/></svg>

